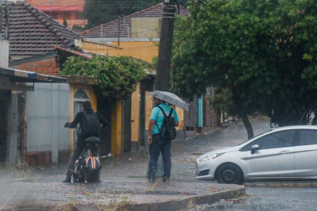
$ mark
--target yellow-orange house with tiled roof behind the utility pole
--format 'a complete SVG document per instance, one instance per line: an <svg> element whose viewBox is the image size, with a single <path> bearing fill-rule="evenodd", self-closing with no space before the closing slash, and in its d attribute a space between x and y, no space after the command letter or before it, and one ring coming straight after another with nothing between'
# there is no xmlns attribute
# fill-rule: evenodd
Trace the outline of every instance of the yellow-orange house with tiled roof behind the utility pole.
<svg viewBox="0 0 317 211"><path fill-rule="evenodd" d="M159 34L162 16L162 3L132 13L120 19L102 24L95 28L80 32L85 41L77 42L77 46L86 52L109 54L113 56L127 55L152 63L159 54ZM189 11L180 6L179 15L189 16ZM99 44L96 44L99 43ZM120 49L102 46L100 43L116 45ZM152 84L139 84L132 94L131 111L131 145L133 149L146 144L148 121L153 102L150 92ZM180 118L178 131L183 137L184 112L176 108Z"/></svg>

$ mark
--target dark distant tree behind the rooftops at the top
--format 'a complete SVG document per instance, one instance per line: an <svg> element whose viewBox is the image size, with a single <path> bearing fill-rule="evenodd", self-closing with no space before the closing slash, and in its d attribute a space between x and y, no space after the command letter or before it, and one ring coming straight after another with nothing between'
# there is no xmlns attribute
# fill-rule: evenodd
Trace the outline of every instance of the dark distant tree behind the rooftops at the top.
<svg viewBox="0 0 317 211"><path fill-rule="evenodd" d="M88 20L86 28L105 24L119 17L155 5L161 0L86 0L83 16Z"/></svg>

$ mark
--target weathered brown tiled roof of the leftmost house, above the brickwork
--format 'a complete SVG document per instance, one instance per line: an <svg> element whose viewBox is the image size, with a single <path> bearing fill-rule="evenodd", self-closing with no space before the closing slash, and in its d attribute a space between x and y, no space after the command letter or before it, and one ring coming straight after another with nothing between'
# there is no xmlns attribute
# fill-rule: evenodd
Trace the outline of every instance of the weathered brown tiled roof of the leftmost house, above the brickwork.
<svg viewBox="0 0 317 211"><path fill-rule="evenodd" d="M54 45L68 47L80 36L59 24L52 17L30 4L8 3L8 32L10 56L34 56L52 52ZM4 36L6 13L2 12Z"/></svg>

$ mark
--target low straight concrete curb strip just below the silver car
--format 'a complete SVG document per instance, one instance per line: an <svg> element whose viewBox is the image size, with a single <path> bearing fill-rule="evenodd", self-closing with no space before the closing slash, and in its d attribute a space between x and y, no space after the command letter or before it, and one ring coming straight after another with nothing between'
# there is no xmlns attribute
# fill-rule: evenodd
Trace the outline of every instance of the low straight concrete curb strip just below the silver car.
<svg viewBox="0 0 317 211"><path fill-rule="evenodd" d="M247 188L317 188L317 182L244 183Z"/></svg>

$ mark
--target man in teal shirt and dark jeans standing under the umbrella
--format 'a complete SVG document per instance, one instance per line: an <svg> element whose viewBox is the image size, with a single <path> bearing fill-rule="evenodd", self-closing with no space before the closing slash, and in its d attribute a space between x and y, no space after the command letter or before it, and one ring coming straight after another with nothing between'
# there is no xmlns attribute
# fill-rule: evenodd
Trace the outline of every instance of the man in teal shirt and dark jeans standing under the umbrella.
<svg viewBox="0 0 317 211"><path fill-rule="evenodd" d="M168 182L171 171L171 140L162 139L160 137L159 131L163 124L164 114L159 107L164 110L166 115L169 114L171 107L166 104L165 101L158 98L154 98L154 102L157 106L152 110L148 137L148 142L150 144L149 181L154 182L155 180L159 153L161 153L164 165L163 181ZM174 118L175 127L177 127L179 125L179 120L175 110L172 112L172 117Z"/></svg>

